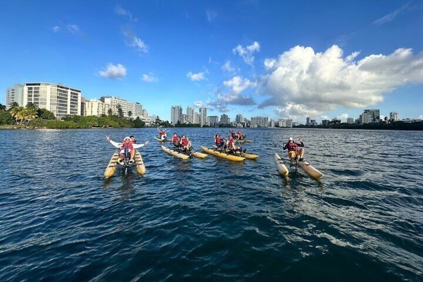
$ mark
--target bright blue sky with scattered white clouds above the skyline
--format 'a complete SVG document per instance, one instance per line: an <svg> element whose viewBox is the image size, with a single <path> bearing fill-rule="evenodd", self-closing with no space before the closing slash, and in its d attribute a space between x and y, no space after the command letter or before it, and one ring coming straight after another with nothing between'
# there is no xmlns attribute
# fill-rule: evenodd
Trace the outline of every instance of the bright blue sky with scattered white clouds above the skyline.
<svg viewBox="0 0 423 282"><path fill-rule="evenodd" d="M423 0L1 3L0 89L63 83L170 120L423 115ZM0 97L5 103L5 94Z"/></svg>

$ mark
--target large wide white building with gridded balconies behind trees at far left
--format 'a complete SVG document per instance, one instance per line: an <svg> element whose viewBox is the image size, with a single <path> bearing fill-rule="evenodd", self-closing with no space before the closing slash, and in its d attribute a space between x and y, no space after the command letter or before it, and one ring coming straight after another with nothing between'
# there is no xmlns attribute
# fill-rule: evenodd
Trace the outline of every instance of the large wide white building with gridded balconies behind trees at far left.
<svg viewBox="0 0 423 282"><path fill-rule="evenodd" d="M63 84L24 83L22 105L32 102L38 108L47 109L60 119L67 115L80 115L81 97L81 90Z"/></svg>

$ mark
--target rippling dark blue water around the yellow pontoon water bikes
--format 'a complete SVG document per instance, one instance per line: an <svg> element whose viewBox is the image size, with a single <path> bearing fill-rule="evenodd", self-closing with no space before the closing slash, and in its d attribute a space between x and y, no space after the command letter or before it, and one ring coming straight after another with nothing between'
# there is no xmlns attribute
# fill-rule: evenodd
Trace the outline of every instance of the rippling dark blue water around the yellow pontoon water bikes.
<svg viewBox="0 0 423 282"><path fill-rule="evenodd" d="M0 281L423 281L423 132L245 132L255 161L182 161L154 128L1 130ZM106 134L151 141L144 176L103 179ZM290 136L321 180L279 175Z"/></svg>

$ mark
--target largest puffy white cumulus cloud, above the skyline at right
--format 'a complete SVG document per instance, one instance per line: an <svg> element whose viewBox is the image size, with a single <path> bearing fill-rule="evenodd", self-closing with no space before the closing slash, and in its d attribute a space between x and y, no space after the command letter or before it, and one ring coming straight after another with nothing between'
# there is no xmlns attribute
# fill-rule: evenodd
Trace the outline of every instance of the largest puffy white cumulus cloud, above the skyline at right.
<svg viewBox="0 0 423 282"><path fill-rule="evenodd" d="M266 59L267 93L259 108L277 106L284 116L319 116L338 106L365 108L383 100L407 83L423 82L423 53L400 48L388 55L369 55L355 61L333 45L325 52L295 46L277 59Z"/></svg>

